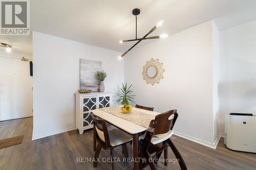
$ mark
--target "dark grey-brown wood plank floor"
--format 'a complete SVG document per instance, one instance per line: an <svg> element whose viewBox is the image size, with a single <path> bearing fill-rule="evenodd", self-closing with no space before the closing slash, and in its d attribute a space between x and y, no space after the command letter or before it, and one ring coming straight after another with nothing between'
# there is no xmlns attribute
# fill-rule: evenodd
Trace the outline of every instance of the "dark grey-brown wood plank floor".
<svg viewBox="0 0 256 170"><path fill-rule="evenodd" d="M31 141L33 118L0 122L0 139L24 134L22 144L0 149L0 169L111 169L111 163L79 163L77 157L93 157L92 130L79 135L77 130ZM220 140L216 150L187 139L173 136L174 143L188 169L256 169L256 154L231 151ZM128 144L130 157L132 146ZM101 150L100 157L109 157L110 151ZM115 157L122 159L121 147L115 149ZM162 155L163 157L163 155ZM175 158L168 150L168 157ZM158 169L180 169L178 163L157 164ZM132 163L115 163L116 169L133 169ZM147 167L146 169L150 169Z"/></svg>

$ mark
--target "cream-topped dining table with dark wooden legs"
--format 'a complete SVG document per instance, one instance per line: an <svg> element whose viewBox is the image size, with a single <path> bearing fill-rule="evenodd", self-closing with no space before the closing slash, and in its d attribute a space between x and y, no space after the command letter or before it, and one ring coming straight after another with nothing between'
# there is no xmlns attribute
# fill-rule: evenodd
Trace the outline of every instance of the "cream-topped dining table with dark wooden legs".
<svg viewBox="0 0 256 170"><path fill-rule="evenodd" d="M121 106L120 106L121 107ZM121 110L121 109L120 109ZM140 109L140 108L133 108L133 110L140 112L140 113L144 113L145 116L146 115L151 115L151 117L154 117L158 114L160 114L159 112L155 112L155 111L148 111L148 110L144 110L144 109ZM127 134L131 135L133 137L133 163L134 163L134 170L138 170L139 169L139 136L143 135L145 133L145 131L147 130L147 128L145 127L145 125L141 126L138 124L135 124L129 120L126 120L122 117L116 116L114 114L108 113L106 111L103 111L101 109L95 109L92 110L92 112L104 119L106 122L108 122L109 124L119 128L120 130L126 132ZM130 113L120 113L118 112L118 114L130 114ZM143 118L143 117L141 117ZM148 123L149 126L149 123ZM93 143L94 143L94 151L96 150L96 136L94 134L93 136Z"/></svg>

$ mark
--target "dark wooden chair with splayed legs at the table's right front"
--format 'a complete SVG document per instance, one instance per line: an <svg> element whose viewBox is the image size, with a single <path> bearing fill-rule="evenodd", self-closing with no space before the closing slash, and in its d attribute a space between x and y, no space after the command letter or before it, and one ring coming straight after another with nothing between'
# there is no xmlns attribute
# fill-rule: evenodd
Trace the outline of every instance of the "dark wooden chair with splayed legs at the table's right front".
<svg viewBox="0 0 256 170"><path fill-rule="evenodd" d="M154 162L150 158L159 159L164 151L164 159L167 159L167 149L170 147L174 155L179 159L179 165L182 170L187 170L186 164L175 147L170 136L173 135L173 127L178 118L177 110L169 110L165 113L158 114L155 120L151 120L150 126L146 133L141 137L139 157L145 158L144 162L140 162L140 169L150 165L151 169L157 169ZM157 162L155 162L157 163ZM167 161L164 163L167 166Z"/></svg>

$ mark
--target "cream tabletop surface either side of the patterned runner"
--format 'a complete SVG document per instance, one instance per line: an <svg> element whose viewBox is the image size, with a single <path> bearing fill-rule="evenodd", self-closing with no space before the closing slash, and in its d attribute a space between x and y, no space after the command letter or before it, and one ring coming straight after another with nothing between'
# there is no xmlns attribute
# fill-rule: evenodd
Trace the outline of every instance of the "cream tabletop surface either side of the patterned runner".
<svg viewBox="0 0 256 170"><path fill-rule="evenodd" d="M160 114L159 112L154 112L154 111L148 111L148 110L144 110L144 109L139 109L139 108L133 108L134 110L136 111L140 111L140 112L143 112L143 113L146 113L146 114L151 114L151 115L158 115ZM120 118L120 117L117 117L113 114L110 114L108 112L104 112L102 110L99 110L99 109L95 109L95 110L92 110L92 112L105 119L107 122L113 124L114 126L130 133L130 134L136 134L136 133L139 133L139 132L143 132L146 130L146 128L142 127L142 126L139 126L137 124L134 124L132 122L129 122L123 118Z"/></svg>

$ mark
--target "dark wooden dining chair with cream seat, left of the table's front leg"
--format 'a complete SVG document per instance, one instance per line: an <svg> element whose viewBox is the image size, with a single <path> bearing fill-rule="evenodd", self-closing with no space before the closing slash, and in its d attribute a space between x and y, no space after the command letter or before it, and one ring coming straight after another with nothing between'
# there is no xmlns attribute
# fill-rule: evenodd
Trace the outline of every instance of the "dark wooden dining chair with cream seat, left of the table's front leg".
<svg viewBox="0 0 256 170"><path fill-rule="evenodd" d="M114 159L114 148L122 145L122 153L125 158L129 157L127 150L127 142L132 140L132 137L119 129L112 129L108 131L104 119L97 117L92 112L90 113L93 118L93 133L98 142L94 158L97 160L100 150L110 150L111 158ZM94 162L94 167L97 167L97 161ZM114 162L112 161L112 169L114 169Z"/></svg>

